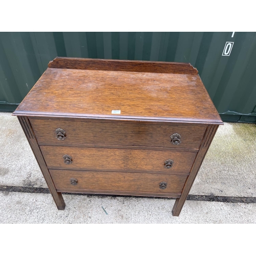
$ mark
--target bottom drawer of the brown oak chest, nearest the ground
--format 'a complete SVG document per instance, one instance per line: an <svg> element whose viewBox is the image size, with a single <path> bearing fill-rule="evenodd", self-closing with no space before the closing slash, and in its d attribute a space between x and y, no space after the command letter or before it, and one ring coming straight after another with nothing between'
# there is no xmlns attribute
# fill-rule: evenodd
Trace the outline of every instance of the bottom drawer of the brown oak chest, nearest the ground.
<svg viewBox="0 0 256 256"><path fill-rule="evenodd" d="M50 170L57 191L179 197L187 175ZM72 181L73 180L73 181Z"/></svg>

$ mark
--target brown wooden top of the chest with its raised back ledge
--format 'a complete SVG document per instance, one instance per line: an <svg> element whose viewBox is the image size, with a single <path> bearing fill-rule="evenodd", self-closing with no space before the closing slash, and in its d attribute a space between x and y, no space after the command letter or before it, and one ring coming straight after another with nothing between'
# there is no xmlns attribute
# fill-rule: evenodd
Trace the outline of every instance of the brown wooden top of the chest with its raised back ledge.
<svg viewBox="0 0 256 256"><path fill-rule="evenodd" d="M14 115L222 124L189 63L144 62L149 65L146 71L153 71L145 72L141 61L137 67L136 61L100 60L100 66L99 60L90 59L90 65L69 67L66 59L50 62ZM115 70L115 62L119 69ZM160 73L157 65L169 70L162 68Z"/></svg>

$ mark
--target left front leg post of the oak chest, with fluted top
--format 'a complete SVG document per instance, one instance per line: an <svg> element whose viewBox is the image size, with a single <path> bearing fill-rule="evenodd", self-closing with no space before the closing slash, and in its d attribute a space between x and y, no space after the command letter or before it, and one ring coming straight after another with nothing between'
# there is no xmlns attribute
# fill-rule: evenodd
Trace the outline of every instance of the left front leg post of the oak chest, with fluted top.
<svg viewBox="0 0 256 256"><path fill-rule="evenodd" d="M25 116L19 116L18 117L20 125L22 125L23 131L28 139L28 142L30 144L30 147L34 153L34 156L37 160L37 163L41 169L42 175L44 176L46 183L50 189L50 192L52 194L53 200L58 208L58 210L64 210L65 209L65 202L63 200L63 197L60 192L56 191L56 188L54 186L52 177L49 173L49 170L47 168L46 162L44 157L42 156L40 147L37 144L37 140L35 138L33 129L31 127L31 124L27 117Z"/></svg>

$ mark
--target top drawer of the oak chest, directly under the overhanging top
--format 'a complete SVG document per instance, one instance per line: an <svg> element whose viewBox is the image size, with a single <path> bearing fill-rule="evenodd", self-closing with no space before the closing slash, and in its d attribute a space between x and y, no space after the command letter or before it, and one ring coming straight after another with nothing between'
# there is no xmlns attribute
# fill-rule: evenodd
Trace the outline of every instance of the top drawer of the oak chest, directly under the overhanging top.
<svg viewBox="0 0 256 256"><path fill-rule="evenodd" d="M169 125L63 119L30 119L30 123L39 145L126 145L197 149L206 130L206 125L197 124ZM65 132L60 131L57 135L58 128ZM171 138L174 134L180 136L176 139L177 144Z"/></svg>

